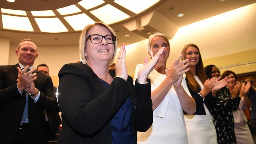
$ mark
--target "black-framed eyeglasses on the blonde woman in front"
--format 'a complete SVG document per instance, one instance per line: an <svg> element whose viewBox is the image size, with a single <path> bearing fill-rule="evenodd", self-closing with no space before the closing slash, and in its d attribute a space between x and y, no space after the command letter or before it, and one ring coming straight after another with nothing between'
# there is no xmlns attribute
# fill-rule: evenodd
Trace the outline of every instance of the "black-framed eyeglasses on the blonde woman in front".
<svg viewBox="0 0 256 144"><path fill-rule="evenodd" d="M103 36L103 35L93 34L93 35L89 35L86 38L86 41L88 39L90 39L92 43L98 44L98 43L102 42L103 37L106 40L106 42L108 42L108 44L114 44L115 39L117 39L117 37L115 35L105 35L105 36Z"/></svg>

